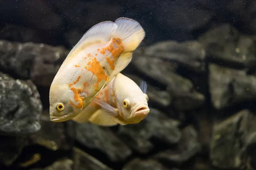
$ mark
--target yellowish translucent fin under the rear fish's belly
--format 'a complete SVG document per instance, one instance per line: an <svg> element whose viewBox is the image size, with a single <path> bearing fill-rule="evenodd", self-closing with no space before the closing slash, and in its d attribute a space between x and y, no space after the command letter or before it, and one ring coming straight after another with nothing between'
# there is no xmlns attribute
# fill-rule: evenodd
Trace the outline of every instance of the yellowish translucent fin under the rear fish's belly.
<svg viewBox="0 0 256 170"><path fill-rule="evenodd" d="M115 119L113 119L113 116L103 109L96 111L90 117L89 121L100 126L115 126L118 124L115 122Z"/></svg>

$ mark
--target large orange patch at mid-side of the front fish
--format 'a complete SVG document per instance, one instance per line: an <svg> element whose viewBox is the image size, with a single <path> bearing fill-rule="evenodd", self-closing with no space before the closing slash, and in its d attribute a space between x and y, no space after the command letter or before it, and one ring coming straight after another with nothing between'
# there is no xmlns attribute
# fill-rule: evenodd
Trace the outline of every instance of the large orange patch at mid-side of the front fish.
<svg viewBox="0 0 256 170"><path fill-rule="evenodd" d="M101 82L102 80L108 81L108 76L106 75L102 65L96 59L96 57L92 59L92 62L88 62L88 65L90 65L90 67L85 66L84 68L87 69L88 71L91 71L97 77L97 82L94 85L94 87L95 87L95 91L98 91L99 82Z"/></svg>

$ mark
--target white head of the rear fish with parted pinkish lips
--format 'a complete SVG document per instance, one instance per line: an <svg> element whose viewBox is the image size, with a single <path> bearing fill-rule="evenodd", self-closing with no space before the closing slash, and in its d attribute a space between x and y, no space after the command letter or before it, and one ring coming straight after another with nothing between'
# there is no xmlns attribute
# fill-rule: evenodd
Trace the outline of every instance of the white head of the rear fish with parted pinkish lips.
<svg viewBox="0 0 256 170"><path fill-rule="evenodd" d="M149 113L148 95L130 78L118 74L114 80L114 90L119 116L127 123L138 123Z"/></svg>

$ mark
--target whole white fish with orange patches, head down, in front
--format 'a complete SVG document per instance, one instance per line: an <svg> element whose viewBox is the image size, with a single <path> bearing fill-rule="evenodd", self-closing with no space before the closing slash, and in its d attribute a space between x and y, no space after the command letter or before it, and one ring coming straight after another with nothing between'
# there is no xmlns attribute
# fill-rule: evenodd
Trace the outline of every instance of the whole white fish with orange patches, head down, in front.
<svg viewBox="0 0 256 170"><path fill-rule="evenodd" d="M131 62L144 37L140 23L124 17L91 27L52 80L50 120L64 122L77 116Z"/></svg>

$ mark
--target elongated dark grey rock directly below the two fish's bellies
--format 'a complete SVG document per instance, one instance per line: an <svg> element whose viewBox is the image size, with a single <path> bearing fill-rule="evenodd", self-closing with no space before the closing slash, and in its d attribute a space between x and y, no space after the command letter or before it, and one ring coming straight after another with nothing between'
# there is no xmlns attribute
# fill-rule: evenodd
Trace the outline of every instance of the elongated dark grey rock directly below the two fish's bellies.
<svg viewBox="0 0 256 170"><path fill-rule="evenodd" d="M76 140L90 149L105 153L113 161L125 160L131 155L131 150L108 127L92 123L76 123Z"/></svg>

